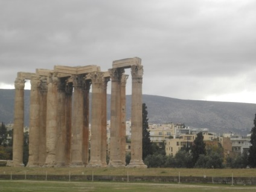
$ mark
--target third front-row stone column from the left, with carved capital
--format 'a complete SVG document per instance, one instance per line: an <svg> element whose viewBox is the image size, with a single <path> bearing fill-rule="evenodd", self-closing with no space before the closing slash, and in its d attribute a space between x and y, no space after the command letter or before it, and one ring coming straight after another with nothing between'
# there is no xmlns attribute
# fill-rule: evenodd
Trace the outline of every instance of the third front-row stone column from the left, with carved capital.
<svg viewBox="0 0 256 192"><path fill-rule="evenodd" d="M53 167L56 163L56 132L57 132L57 84L56 74L48 77L48 93L46 107L46 167Z"/></svg>

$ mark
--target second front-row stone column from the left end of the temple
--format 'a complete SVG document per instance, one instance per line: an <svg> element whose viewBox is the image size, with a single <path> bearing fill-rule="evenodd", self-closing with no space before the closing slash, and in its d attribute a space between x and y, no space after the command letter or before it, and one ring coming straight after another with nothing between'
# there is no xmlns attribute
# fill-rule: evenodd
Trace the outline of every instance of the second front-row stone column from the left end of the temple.
<svg viewBox="0 0 256 192"><path fill-rule="evenodd" d="M30 143L29 157L27 167L39 165L39 138L40 138L40 77L39 75L31 75L30 79Z"/></svg>

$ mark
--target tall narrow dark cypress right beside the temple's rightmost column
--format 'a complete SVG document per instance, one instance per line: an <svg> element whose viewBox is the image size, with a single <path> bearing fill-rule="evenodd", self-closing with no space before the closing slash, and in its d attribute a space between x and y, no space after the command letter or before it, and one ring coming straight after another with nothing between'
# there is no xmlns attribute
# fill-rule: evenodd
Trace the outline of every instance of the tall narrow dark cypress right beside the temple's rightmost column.
<svg viewBox="0 0 256 192"><path fill-rule="evenodd" d="M152 143L150 141L149 123L147 118L147 106L142 104L142 159L152 155Z"/></svg>

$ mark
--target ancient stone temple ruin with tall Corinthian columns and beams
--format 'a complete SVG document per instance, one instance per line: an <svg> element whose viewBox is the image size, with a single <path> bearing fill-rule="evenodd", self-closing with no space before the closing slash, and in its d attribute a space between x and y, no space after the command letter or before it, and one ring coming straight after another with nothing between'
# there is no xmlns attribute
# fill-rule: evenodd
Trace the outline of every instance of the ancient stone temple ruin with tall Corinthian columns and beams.
<svg viewBox="0 0 256 192"><path fill-rule="evenodd" d="M23 165L24 86L25 80L29 79L31 95L28 167L124 167L128 78L124 69L127 68L130 68L132 75L131 160L127 167L147 167L142 161L143 66L138 57L116 60L106 72L101 72L96 65L58 65L53 70L18 72L15 80L13 166ZM107 165L106 90L109 81L110 160Z"/></svg>

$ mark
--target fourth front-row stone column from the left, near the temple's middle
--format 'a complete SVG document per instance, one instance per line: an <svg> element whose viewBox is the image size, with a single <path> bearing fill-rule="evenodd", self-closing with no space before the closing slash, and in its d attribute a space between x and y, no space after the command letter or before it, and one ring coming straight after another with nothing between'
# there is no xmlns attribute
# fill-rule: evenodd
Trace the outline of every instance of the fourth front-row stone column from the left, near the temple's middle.
<svg viewBox="0 0 256 192"><path fill-rule="evenodd" d="M83 75L73 75L71 166L84 167L83 162Z"/></svg>

